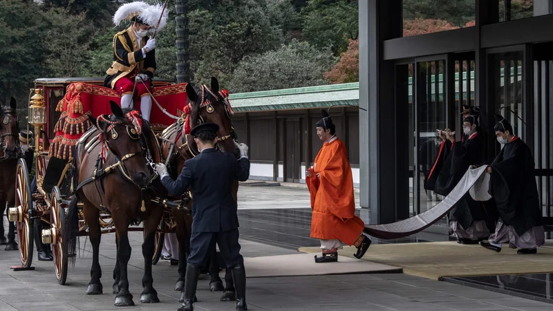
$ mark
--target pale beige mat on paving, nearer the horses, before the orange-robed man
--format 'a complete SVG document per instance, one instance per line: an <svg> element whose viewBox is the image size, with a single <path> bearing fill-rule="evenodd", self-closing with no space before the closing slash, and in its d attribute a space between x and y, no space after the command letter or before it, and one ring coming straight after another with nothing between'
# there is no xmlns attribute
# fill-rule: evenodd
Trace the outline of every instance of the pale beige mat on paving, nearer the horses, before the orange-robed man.
<svg viewBox="0 0 553 311"><path fill-rule="evenodd" d="M319 249L320 251L320 249ZM248 278L401 272L400 268L341 256L337 263L315 263L314 254L244 258Z"/></svg>

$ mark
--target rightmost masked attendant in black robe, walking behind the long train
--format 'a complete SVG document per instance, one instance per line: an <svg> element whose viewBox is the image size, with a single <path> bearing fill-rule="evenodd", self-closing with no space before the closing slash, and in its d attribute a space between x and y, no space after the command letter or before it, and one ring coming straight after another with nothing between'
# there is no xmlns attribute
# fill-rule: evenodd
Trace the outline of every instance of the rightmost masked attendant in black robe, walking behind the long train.
<svg viewBox="0 0 553 311"><path fill-rule="evenodd" d="M496 231L488 242L480 245L496 252L502 243L520 248L518 254L536 254L545 243L538 187L534 174L534 156L529 147L514 135L513 127L505 118L496 115L494 126L498 142L503 146L499 155L487 168L491 175L490 190L499 213Z"/></svg>

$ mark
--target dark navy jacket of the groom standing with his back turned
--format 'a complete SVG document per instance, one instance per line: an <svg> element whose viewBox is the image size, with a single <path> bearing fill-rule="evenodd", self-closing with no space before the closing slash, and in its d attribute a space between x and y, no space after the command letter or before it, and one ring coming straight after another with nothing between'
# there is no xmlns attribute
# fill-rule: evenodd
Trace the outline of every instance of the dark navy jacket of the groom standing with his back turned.
<svg viewBox="0 0 553 311"><path fill-rule="evenodd" d="M250 160L236 160L232 153L204 149L187 160L176 180L165 176L161 182L171 196L192 191L192 233L225 232L238 228L236 203L232 198L234 180L250 178Z"/></svg>

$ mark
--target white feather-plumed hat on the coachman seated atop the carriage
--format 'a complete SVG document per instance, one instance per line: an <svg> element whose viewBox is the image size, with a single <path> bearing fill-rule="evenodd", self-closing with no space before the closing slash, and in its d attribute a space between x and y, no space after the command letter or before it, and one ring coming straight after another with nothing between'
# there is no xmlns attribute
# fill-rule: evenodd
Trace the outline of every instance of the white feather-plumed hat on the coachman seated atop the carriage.
<svg viewBox="0 0 553 311"><path fill-rule="evenodd" d="M160 21L162 12L163 17ZM120 6L115 12L115 15L113 15L113 23L115 26L118 26L122 21L138 21L151 28L156 28L157 26L157 32L160 32L160 30L167 25L167 19L169 19L169 8L163 10L162 3L149 5L144 1L125 3ZM160 22L159 26L158 21Z"/></svg>

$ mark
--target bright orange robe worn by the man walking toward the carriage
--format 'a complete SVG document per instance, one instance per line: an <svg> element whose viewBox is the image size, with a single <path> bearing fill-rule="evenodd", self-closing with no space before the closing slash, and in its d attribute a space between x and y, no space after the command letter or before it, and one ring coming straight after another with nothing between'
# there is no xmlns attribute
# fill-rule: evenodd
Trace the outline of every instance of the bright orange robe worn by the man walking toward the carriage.
<svg viewBox="0 0 553 311"><path fill-rule="evenodd" d="M365 224L355 216L353 176L346 145L339 139L324 142L306 177L311 194L311 237L353 245ZM317 178L319 173L319 178Z"/></svg>

